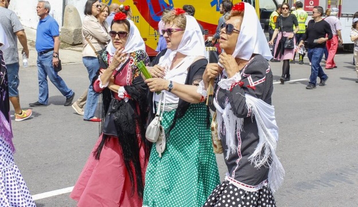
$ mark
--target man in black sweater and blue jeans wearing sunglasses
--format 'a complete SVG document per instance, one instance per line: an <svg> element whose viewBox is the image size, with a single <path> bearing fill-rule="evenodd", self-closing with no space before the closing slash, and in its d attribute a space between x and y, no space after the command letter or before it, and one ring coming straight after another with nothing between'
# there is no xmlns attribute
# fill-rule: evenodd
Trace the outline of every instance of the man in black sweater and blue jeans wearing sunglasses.
<svg viewBox="0 0 358 207"><path fill-rule="evenodd" d="M323 50L325 42L332 39L332 30L329 24L322 19L323 8L315 6L312 11L312 20L308 22L305 34L299 44L299 47L304 46L304 42L308 42L308 59L311 62L311 76L307 89L316 88L317 76L320 78L320 86L326 85L328 76L323 72L321 67L321 60L323 57ZM327 36L327 37L326 37Z"/></svg>

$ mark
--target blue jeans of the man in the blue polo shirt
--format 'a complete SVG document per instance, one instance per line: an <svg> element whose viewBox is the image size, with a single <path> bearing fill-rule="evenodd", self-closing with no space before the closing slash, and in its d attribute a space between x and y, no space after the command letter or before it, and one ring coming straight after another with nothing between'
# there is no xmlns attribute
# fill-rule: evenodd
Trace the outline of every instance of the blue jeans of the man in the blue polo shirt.
<svg viewBox="0 0 358 207"><path fill-rule="evenodd" d="M58 76L52 65L53 51L40 55L37 54L37 69L39 79L39 102L47 105L48 102L48 84L47 76L63 96L69 98L73 95L73 91L69 89L66 83Z"/></svg>

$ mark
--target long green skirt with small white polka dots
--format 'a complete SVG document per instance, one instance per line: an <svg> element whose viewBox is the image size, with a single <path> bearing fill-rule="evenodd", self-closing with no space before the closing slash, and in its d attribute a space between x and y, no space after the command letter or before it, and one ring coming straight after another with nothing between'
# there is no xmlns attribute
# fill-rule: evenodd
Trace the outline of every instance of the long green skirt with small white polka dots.
<svg viewBox="0 0 358 207"><path fill-rule="evenodd" d="M169 128L174 114L175 110L164 112L165 129ZM176 121L161 158L153 144L145 175L143 206L201 207L219 183L206 106L192 104L184 117Z"/></svg>

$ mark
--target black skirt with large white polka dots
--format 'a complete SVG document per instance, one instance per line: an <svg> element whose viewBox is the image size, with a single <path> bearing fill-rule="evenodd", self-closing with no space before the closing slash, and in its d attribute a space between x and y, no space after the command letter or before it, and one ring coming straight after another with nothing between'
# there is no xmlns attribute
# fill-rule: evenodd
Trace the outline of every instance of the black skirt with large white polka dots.
<svg viewBox="0 0 358 207"><path fill-rule="evenodd" d="M220 183L211 193L203 207L275 207L271 190L263 186L250 192L237 188L228 180Z"/></svg>

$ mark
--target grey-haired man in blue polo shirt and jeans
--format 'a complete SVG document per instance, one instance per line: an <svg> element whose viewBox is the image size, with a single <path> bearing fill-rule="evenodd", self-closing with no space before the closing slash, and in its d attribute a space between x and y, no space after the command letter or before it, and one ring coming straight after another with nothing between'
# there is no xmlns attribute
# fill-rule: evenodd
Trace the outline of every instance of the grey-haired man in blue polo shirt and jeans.
<svg viewBox="0 0 358 207"><path fill-rule="evenodd" d="M50 15L51 6L48 1L39 1L37 4L37 15L40 17L37 25L36 50L37 67L39 79L39 100L29 104L31 107L47 106L48 84L47 76L57 89L66 97L64 106L71 106L74 92L69 89L66 83L55 72L54 67L58 66L58 49L60 45L58 23Z"/></svg>

